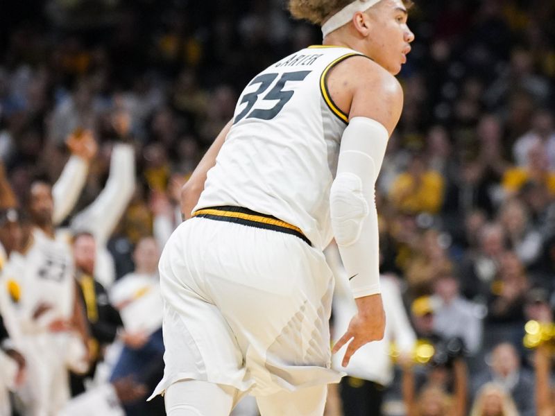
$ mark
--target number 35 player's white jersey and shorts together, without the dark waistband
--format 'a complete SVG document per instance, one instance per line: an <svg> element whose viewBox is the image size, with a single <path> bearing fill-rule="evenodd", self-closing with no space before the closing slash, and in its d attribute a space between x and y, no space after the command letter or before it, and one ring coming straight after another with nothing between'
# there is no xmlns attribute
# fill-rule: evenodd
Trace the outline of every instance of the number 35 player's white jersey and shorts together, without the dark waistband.
<svg viewBox="0 0 555 416"><path fill-rule="evenodd" d="M194 211L244 207L300 228L311 245L210 218L180 225L160 259L166 367L155 395L183 379L257 397L341 379L330 368L334 284L322 249L332 239L330 187L348 115L330 100L325 76L357 55L302 49L241 94Z"/></svg>

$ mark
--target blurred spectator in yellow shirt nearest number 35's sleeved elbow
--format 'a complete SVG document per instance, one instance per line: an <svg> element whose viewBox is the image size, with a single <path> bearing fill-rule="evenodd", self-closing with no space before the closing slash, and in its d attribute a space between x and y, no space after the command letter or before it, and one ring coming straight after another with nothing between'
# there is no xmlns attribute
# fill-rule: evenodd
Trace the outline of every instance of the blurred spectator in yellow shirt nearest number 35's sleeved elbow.
<svg viewBox="0 0 555 416"><path fill-rule="evenodd" d="M443 203L445 181L428 167L425 155L412 155L406 171L401 173L389 192L393 207L405 212L437 214Z"/></svg>

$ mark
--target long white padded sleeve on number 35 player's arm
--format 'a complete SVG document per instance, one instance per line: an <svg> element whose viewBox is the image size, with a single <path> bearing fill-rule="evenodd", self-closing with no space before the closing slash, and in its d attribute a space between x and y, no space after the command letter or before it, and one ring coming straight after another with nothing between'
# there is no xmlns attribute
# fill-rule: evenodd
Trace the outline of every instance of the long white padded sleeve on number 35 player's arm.
<svg viewBox="0 0 555 416"><path fill-rule="evenodd" d="M351 119L341 138L330 191L332 228L355 298L380 293L375 183L388 137L375 120Z"/></svg>

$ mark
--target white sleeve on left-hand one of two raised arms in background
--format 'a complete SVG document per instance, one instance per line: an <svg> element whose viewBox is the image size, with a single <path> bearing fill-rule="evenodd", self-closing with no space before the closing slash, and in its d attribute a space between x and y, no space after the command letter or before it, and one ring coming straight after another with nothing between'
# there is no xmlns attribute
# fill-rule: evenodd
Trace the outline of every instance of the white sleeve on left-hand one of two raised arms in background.
<svg viewBox="0 0 555 416"><path fill-rule="evenodd" d="M54 225L62 223L74 209L79 198L85 180L89 164L82 157L71 156L64 166L64 170L52 187L52 198L54 200L54 212L52 220Z"/></svg>

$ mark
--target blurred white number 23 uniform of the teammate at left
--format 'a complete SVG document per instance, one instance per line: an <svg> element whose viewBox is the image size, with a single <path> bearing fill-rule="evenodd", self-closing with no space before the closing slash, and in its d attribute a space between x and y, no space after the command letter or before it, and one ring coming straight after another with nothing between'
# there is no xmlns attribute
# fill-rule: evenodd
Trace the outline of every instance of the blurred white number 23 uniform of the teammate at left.
<svg viewBox="0 0 555 416"><path fill-rule="evenodd" d="M19 398L27 415L56 415L69 399L68 367L87 370L83 341L75 333L48 329L54 320L67 320L73 314L74 261L69 245L34 229L33 245L24 256L10 254L1 281L16 282L20 293L18 302L2 297L9 317L6 327L27 363L26 383ZM33 313L40 304L51 309L35 319Z"/></svg>

